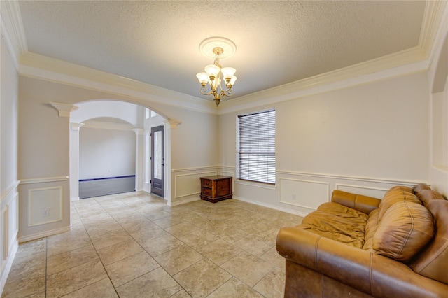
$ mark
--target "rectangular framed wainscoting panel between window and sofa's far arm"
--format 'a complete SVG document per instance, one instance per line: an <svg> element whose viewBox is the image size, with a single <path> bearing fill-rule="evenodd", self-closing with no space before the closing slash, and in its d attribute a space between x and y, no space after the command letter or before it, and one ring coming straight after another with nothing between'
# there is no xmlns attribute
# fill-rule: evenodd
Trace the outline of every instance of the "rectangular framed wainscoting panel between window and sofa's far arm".
<svg viewBox="0 0 448 298"><path fill-rule="evenodd" d="M328 201L330 183L279 178L279 201L281 203L316 210Z"/></svg>

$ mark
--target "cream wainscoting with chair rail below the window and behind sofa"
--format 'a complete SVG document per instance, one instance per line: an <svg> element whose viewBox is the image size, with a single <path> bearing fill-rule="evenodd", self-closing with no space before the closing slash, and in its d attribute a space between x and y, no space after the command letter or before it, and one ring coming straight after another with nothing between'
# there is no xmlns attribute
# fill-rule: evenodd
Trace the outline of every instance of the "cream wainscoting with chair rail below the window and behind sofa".
<svg viewBox="0 0 448 298"><path fill-rule="evenodd" d="M234 198L279 211L306 216L331 200L333 190L342 190L382 199L395 185L412 187L426 181L390 180L355 176L337 176L323 173L277 171L274 187L246 183L235 179Z"/></svg>

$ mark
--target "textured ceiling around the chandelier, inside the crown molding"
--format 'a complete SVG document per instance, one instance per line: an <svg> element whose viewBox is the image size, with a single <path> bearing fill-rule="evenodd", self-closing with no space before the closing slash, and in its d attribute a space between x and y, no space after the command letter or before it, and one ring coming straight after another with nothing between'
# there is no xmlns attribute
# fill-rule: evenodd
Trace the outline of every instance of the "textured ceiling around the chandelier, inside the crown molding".
<svg viewBox="0 0 448 298"><path fill-rule="evenodd" d="M234 97L419 44L425 1L19 1L29 52L203 97L202 40L237 45Z"/></svg>

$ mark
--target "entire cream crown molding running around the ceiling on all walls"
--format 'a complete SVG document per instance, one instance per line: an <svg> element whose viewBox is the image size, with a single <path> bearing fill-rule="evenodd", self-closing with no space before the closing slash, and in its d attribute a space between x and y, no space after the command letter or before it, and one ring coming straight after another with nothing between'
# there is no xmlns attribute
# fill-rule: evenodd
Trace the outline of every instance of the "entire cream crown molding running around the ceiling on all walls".
<svg viewBox="0 0 448 298"><path fill-rule="evenodd" d="M8 39L9 46L13 48L15 57L20 57L18 59L20 76L108 92L123 97L123 99L131 99L148 108L151 108L151 103L156 103L217 115L254 106L272 105L276 102L370 83L384 78L427 71L433 59L435 44L439 42L437 38L440 38L440 31L446 30L442 27L444 27L444 20L447 20L448 10L447 1L426 2L419 45L414 48L244 97L228 99L223 101L219 108L216 108L214 102L207 99L192 97L130 78L28 52L18 1L2 1L1 4L2 27L3 23L6 24L4 36L8 36L6 39ZM3 34L3 28L1 32Z"/></svg>

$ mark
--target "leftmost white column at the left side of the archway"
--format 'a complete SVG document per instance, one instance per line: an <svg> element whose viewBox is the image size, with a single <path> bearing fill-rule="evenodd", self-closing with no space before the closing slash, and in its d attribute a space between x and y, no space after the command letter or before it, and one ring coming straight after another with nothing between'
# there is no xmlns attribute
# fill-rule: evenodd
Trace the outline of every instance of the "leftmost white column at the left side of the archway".
<svg viewBox="0 0 448 298"><path fill-rule="evenodd" d="M70 123L70 201L79 199L79 130L84 123Z"/></svg>

